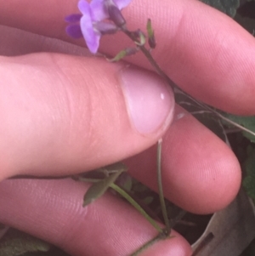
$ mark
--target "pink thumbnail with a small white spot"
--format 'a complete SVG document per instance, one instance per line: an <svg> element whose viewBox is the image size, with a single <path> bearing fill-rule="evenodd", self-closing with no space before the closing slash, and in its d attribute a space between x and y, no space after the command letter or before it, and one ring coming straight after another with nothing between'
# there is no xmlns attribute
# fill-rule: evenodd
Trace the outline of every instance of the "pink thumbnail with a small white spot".
<svg viewBox="0 0 255 256"><path fill-rule="evenodd" d="M128 67L121 71L123 94L133 127L140 134L156 133L173 118L173 92L161 77Z"/></svg>

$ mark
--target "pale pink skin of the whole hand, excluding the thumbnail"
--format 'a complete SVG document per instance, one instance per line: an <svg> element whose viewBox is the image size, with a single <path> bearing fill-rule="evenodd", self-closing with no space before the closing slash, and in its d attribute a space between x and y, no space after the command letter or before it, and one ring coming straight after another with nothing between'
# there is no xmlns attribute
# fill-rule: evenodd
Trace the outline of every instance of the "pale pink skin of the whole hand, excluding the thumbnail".
<svg viewBox="0 0 255 256"><path fill-rule="evenodd" d="M63 19L77 12L75 0L0 0L0 6L1 25L84 45L65 35ZM150 17L158 43L153 56L186 92L224 111L255 115L255 41L235 21L194 0L133 0L123 14L130 28L144 28ZM171 92L167 118L153 132L140 134L116 78L126 65L49 54L43 37L17 38L8 28L2 35L1 53L21 55L0 58L1 180L77 174L129 157L130 174L156 190L156 148L150 146L163 136L169 200L193 213L213 213L235 198L241 168L234 154L194 117L178 119L184 111L176 107L173 112ZM130 44L121 34L114 38L103 38L99 50L116 54L116 48ZM129 61L152 70L140 54ZM145 75L152 76L150 71ZM125 202L105 195L82 208L83 193L84 185L70 179L3 181L0 222L74 256L128 255L156 236ZM190 255L190 245L174 235L142 255Z"/></svg>

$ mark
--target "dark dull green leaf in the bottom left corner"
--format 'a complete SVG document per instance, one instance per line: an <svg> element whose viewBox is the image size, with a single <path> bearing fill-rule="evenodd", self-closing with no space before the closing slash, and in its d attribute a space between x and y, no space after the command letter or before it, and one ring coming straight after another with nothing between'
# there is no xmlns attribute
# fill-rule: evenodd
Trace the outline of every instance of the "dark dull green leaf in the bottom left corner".
<svg viewBox="0 0 255 256"><path fill-rule="evenodd" d="M31 252L48 252L50 245L20 230L9 229L0 240L1 256L19 256Z"/></svg>

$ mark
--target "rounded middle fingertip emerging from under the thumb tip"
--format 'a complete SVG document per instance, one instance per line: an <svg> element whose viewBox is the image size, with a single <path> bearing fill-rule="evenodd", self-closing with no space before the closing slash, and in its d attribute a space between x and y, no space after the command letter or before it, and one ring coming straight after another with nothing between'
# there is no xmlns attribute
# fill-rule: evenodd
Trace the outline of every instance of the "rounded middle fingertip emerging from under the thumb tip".
<svg viewBox="0 0 255 256"><path fill-rule="evenodd" d="M176 108L176 117L184 110ZM127 160L129 172L157 190L156 146ZM214 213L239 191L241 168L233 151L194 117L175 119L163 137L164 195L192 213Z"/></svg>

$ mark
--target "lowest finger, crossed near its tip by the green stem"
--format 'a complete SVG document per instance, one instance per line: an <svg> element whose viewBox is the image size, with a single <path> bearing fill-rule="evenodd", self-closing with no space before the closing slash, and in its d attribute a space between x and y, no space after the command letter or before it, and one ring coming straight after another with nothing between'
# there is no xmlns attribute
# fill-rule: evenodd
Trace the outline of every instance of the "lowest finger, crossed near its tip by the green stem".
<svg viewBox="0 0 255 256"><path fill-rule="evenodd" d="M74 256L130 255L157 235L135 209L110 194L82 208L87 187L71 179L3 181L0 221ZM173 234L142 255L190 255L184 238Z"/></svg>

